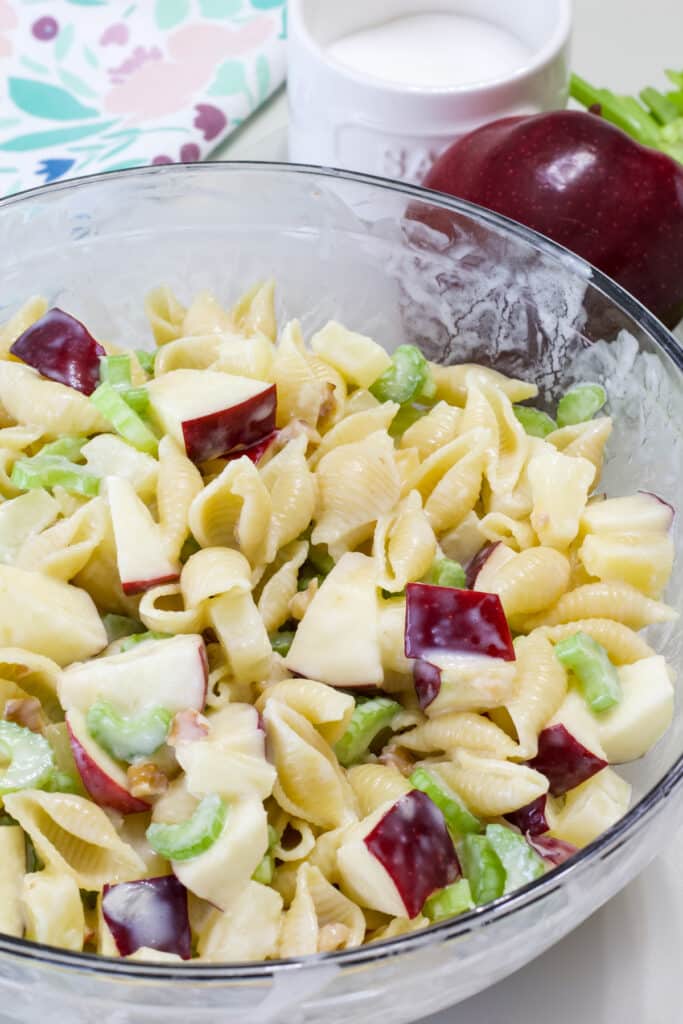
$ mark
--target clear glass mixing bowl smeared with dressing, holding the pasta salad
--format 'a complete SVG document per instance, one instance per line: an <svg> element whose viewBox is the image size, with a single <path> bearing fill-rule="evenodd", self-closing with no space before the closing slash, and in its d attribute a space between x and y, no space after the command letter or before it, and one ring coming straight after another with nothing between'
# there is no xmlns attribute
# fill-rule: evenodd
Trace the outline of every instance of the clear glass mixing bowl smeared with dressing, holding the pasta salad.
<svg viewBox="0 0 683 1024"><path fill-rule="evenodd" d="M0 321L44 294L97 335L147 338L145 292L166 282L226 301L279 282L281 322L330 317L393 348L476 359L550 400L600 380L614 433L604 487L675 503L683 353L638 302L582 260L477 207L379 179L274 164L124 171L0 203ZM683 551L680 516L676 519ZM679 557L670 600L681 593ZM681 669L681 638L653 642ZM577 857L511 896L424 932L298 962L188 966L72 954L0 938L6 1020L43 1024L400 1024L481 990L562 938L625 886L680 824L683 713L626 774L634 806Z"/></svg>

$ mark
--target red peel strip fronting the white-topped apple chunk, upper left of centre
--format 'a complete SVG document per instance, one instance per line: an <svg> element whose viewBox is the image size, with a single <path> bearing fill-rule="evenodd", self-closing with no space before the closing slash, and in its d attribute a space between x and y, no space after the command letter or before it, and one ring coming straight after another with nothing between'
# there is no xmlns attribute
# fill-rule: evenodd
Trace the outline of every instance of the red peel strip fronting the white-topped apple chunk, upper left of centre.
<svg viewBox="0 0 683 1024"><path fill-rule="evenodd" d="M182 436L187 458L206 462L229 455L237 447L251 447L275 429L275 385L252 395L239 406L186 420Z"/></svg>

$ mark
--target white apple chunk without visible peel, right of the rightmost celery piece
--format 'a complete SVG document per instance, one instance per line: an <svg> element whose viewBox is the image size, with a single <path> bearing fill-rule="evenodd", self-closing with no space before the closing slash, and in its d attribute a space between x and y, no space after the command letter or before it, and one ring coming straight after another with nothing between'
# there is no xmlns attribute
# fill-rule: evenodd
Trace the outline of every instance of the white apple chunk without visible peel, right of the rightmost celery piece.
<svg viewBox="0 0 683 1024"><path fill-rule="evenodd" d="M674 687L660 654L616 671L622 699L598 718L600 742L610 764L642 758L674 717Z"/></svg>

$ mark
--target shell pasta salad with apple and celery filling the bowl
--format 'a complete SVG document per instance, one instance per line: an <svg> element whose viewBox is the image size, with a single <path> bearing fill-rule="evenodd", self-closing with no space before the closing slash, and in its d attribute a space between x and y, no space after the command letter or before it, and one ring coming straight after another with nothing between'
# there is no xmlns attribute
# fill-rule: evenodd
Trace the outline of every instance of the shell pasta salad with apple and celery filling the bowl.
<svg viewBox="0 0 683 1024"><path fill-rule="evenodd" d="M0 931L260 961L400 936L627 811L673 715L673 510L593 383L278 333L272 283L120 350L0 329Z"/></svg>

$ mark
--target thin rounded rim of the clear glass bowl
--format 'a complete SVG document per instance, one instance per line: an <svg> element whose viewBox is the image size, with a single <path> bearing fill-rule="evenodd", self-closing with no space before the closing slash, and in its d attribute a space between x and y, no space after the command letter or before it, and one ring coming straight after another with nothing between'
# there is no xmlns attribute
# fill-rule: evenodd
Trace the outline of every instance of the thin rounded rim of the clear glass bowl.
<svg viewBox="0 0 683 1024"><path fill-rule="evenodd" d="M495 213L484 207L477 206L466 200L457 199L445 193L405 184L388 178L371 174L361 174L333 167L318 167L313 164L289 164L269 161L203 161L200 163L160 164L146 167L126 168L119 171L106 171L99 174L89 174L70 178L67 181L56 181L48 185L39 185L0 200L0 215L9 207L19 206L35 199L45 199L58 193L90 185L98 185L106 180L137 177L140 179L155 176L181 177L187 171L193 173L238 173L254 171L257 173L279 175L291 174L302 177L342 179L354 184L365 184L380 191L392 191L421 202L432 203L442 209L455 213L463 213L469 217L483 221L499 231L503 229L508 234L521 239L533 245L546 255L558 260L580 276L583 275L598 291L618 308L628 313L636 324L649 334L656 346L663 349L672 359L675 367L683 374L683 346L680 346L671 332L633 295L621 285L612 281L601 270L592 266L582 257L558 245L551 239L526 227L509 217ZM373 963L408 953L431 945L433 942L450 941L478 931L480 928L493 925L494 922L510 916L515 911L530 907L542 902L557 892L562 883L571 876L577 876L590 863L597 859L605 859L624 846L636 831L640 822L648 818L668 797L683 790L683 753L653 785L611 828L584 847L563 864L548 871L547 874L526 886L515 890L507 896L494 900L492 903L475 907L457 918L431 925L419 931L396 938L384 939L352 949L331 953L315 953L308 956L263 962L226 962L225 964L198 963L187 961L182 966L176 964L164 965L157 962L136 962L120 957L102 956L98 953L72 952L56 946L47 946L24 938L0 935L0 954L11 954L15 958L39 963L45 967L63 967L89 974L103 975L110 980L129 979L134 981L161 980L194 983L199 980L222 982L250 982L274 980L279 975L299 970L313 970L336 967L337 969L366 967Z"/></svg>

